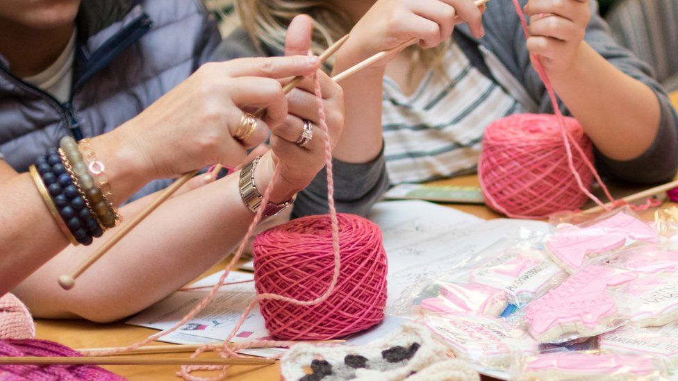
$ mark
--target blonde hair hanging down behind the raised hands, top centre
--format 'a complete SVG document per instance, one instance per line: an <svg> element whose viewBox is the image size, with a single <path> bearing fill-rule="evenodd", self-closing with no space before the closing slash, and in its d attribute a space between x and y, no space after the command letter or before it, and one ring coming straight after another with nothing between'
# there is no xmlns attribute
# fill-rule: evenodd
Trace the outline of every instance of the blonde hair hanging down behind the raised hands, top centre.
<svg viewBox="0 0 678 381"><path fill-rule="evenodd" d="M328 0L235 0L235 10L257 49L263 53L262 44L284 50L285 33L292 19L301 14L313 17L313 41L311 51L320 54L327 46L346 35L353 22L345 12ZM443 57L449 48L449 40L433 49L410 46L410 73L415 67L435 67L444 74Z"/></svg>

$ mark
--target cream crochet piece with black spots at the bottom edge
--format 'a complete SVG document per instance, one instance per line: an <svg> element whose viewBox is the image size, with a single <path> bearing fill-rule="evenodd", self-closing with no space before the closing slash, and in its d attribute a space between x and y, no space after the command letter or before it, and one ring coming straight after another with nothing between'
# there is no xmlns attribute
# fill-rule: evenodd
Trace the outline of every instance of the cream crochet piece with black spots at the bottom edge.
<svg viewBox="0 0 678 381"><path fill-rule="evenodd" d="M282 358L281 374L288 381L479 380L476 371L449 359L445 346L414 323L365 346L297 344Z"/></svg>

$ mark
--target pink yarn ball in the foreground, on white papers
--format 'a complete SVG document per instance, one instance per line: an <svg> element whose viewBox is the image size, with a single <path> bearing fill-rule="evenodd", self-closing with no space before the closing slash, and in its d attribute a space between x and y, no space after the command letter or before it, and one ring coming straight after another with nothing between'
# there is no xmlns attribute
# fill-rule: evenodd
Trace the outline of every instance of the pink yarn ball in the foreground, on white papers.
<svg viewBox="0 0 678 381"><path fill-rule="evenodd" d="M383 320L386 251L379 226L353 214L337 214L341 266L338 283L324 302L300 306L261 300L266 328L279 339L345 337ZM312 300L329 286L334 269L329 215L295 219L254 241L258 293Z"/></svg>

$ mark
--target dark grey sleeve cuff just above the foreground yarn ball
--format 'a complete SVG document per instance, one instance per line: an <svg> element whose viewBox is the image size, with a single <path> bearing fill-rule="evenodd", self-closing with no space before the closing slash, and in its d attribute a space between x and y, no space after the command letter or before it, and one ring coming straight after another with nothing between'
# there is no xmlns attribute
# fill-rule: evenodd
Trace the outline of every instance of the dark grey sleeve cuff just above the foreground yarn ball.
<svg viewBox="0 0 678 381"><path fill-rule="evenodd" d="M340 213L352 213L365 217L372 205L379 201L388 189L386 160L383 146L379 156L372 162L352 164L333 160L334 202ZM292 210L292 217L325 214L327 206L327 172L323 168L306 189L299 193Z"/></svg>

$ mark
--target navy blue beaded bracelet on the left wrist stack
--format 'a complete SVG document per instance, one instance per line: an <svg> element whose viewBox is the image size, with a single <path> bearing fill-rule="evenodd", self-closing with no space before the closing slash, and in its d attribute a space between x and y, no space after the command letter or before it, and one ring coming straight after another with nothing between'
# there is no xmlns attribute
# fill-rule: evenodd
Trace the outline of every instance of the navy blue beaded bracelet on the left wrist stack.
<svg viewBox="0 0 678 381"><path fill-rule="evenodd" d="M86 246L104 232L94 221L64 164L58 150L50 148L45 155L38 156L35 167L68 230L79 244Z"/></svg>

